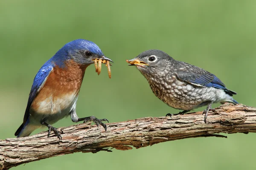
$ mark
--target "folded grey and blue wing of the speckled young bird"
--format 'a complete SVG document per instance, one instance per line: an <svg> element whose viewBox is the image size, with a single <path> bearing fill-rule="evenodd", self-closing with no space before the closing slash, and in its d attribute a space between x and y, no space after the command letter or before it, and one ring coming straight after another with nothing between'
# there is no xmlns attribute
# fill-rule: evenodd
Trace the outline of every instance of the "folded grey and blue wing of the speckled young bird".
<svg viewBox="0 0 256 170"><path fill-rule="evenodd" d="M179 62L179 65L177 65L177 73L178 79L189 82L193 85L223 89L225 93L230 96L236 94L236 92L228 90L224 83L221 82L221 80L214 74L211 74L195 65Z"/></svg>

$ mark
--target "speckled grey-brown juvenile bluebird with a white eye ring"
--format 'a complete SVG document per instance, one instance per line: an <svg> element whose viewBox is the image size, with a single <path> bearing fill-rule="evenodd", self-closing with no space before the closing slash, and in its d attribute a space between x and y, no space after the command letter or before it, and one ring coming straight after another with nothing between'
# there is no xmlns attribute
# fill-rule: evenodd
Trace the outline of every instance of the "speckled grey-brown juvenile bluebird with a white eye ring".
<svg viewBox="0 0 256 170"><path fill-rule="evenodd" d="M175 109L184 114L195 108L207 106L204 110L204 122L212 103L232 102L236 92L228 90L214 74L186 62L176 61L160 50L144 51L134 59L126 60L135 65L148 80L153 93ZM166 116L172 116L168 113Z"/></svg>

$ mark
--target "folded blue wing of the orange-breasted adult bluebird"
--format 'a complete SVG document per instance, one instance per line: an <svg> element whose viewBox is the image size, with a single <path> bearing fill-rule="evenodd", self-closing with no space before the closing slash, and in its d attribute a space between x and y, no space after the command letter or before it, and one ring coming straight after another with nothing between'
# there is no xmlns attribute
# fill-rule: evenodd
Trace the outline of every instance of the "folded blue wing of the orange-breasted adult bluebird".
<svg viewBox="0 0 256 170"><path fill-rule="evenodd" d="M35 99L35 96L38 94L38 91L40 91L42 85L44 85L45 80L47 79L47 76L50 74L50 72L53 69L54 64L51 60L48 60L44 65L40 68L38 73L35 76L30 94L29 94L29 101L26 107L25 115L23 118L23 123L25 124L26 120L29 117L29 108Z"/></svg>

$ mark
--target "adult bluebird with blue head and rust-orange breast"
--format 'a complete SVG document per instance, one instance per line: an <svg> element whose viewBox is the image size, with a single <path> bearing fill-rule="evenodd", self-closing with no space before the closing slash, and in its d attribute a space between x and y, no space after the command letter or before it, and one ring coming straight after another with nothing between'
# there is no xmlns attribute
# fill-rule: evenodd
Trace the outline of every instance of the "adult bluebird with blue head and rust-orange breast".
<svg viewBox="0 0 256 170"><path fill-rule="evenodd" d="M93 121L107 130L102 123L107 119L97 119L95 116L79 118L76 115L76 102L85 69L95 59L112 62L95 43L82 39L67 43L50 58L35 76L23 123L15 136L29 136L35 129L47 126L48 137L52 130L61 139L60 133L51 124L69 115L73 122Z"/></svg>

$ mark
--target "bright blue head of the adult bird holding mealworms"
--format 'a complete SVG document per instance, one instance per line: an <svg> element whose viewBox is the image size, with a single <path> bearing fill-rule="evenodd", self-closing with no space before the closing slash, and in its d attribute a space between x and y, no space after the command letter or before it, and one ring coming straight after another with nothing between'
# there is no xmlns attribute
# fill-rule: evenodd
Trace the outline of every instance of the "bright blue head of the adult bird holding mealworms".
<svg viewBox="0 0 256 170"><path fill-rule="evenodd" d="M68 42L53 57L58 66L63 66L64 61L73 59L75 62L87 66L93 64L94 59L111 59L104 56L101 49L94 42L78 39Z"/></svg>

